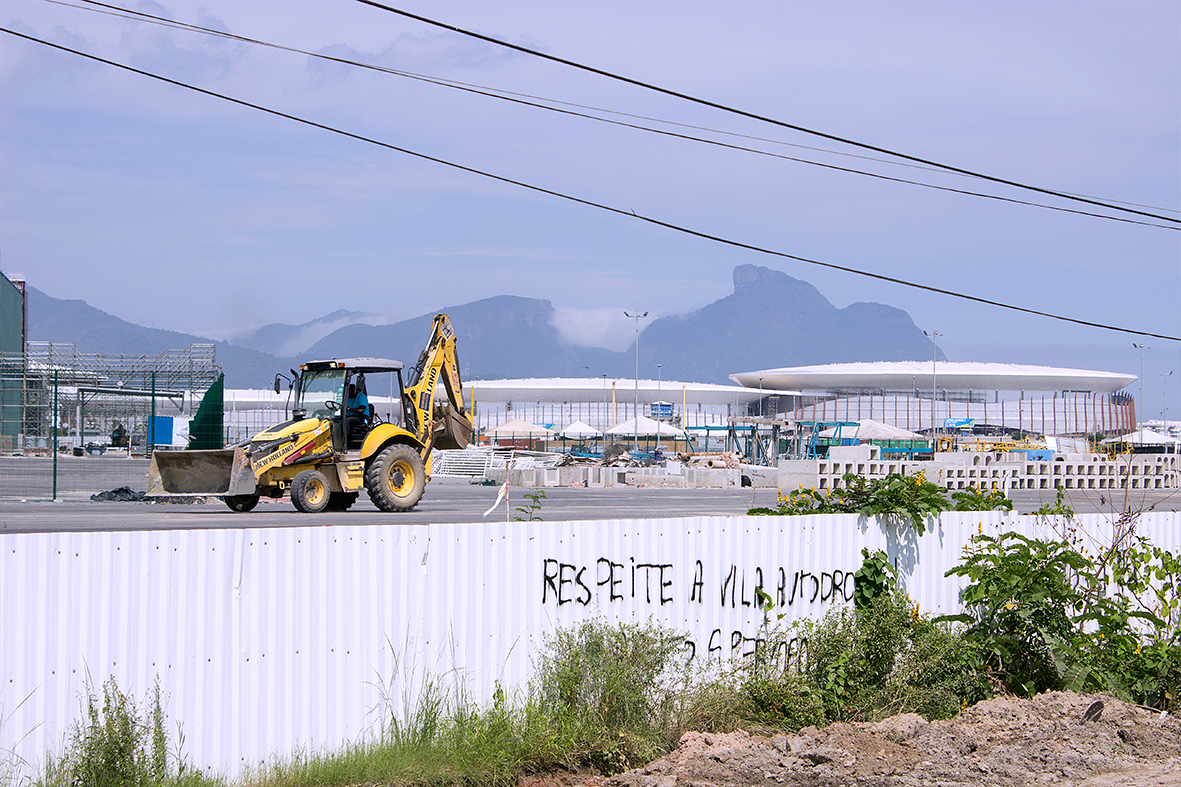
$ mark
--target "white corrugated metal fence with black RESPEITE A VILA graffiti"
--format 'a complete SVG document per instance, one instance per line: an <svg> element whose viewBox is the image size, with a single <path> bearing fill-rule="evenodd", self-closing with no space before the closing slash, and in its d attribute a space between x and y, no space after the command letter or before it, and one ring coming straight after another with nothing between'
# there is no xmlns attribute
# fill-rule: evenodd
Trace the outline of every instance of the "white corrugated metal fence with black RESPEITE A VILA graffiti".
<svg viewBox="0 0 1181 787"><path fill-rule="evenodd" d="M1110 540L1108 519L1078 521ZM1179 526L1137 528L1176 552ZM158 676L188 760L235 775L373 734L424 676L476 700L523 687L555 626L651 617L689 657L750 652L756 586L785 620L820 617L852 600L862 547L924 611L958 611L944 573L977 532L1011 529L1055 536L994 512L921 538L855 515L0 535L0 773L60 750L107 676L137 698Z"/></svg>

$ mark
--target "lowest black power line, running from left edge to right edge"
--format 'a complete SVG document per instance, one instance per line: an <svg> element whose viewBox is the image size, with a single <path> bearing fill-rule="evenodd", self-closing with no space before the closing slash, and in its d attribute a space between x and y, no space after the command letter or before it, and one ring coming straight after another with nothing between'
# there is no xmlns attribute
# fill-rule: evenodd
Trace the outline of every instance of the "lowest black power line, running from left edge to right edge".
<svg viewBox="0 0 1181 787"><path fill-rule="evenodd" d="M725 245L725 246L731 246L733 248L743 248L743 249L746 249L746 251L750 251L750 252L757 252L759 254L768 254L770 256L777 256L777 258L785 259L785 260L795 260L796 262L804 262L804 264L808 264L808 265L816 265L816 266L820 266L820 267L830 268L833 271L842 271L844 273L852 273L852 274L860 275L860 277L866 277L866 278L869 278L869 279L876 279L879 281L889 281L892 284L902 285L905 287L912 287L914 290L922 290L922 291L926 291L926 292L933 292L933 293L938 293L938 294L941 294L941 295L948 295L948 297L952 297L952 298L959 298L959 299L963 299L963 300L970 300L970 301L973 301L973 303L977 303L977 304L984 304L986 306L996 306L998 308L1006 308L1006 310L1010 310L1010 311L1022 312L1022 313L1025 313L1025 314L1033 314L1036 317L1045 317L1045 318L1053 319L1053 320L1059 320L1059 321L1063 321L1063 323L1072 323L1075 325L1085 325L1088 327L1097 327L1097 329L1103 329L1103 330L1107 330L1107 331L1117 331L1117 332L1121 332L1121 333L1130 333L1130 334L1134 334L1134 336L1144 336L1144 337L1151 337L1151 338L1156 338L1156 339L1168 339L1170 342L1181 342L1181 337L1174 337L1174 336L1168 336L1168 334L1163 334L1163 333L1151 333L1149 331L1137 331L1137 330L1134 330L1134 329L1124 329L1124 327L1118 327L1118 326L1115 326L1115 325L1108 325L1105 323L1092 323L1092 321L1089 321L1089 320L1081 320L1081 319L1076 319L1076 318L1072 318L1072 317L1065 317L1065 316L1062 316L1062 314L1053 314L1053 313L1050 313L1050 312L1042 312L1042 311L1037 311L1037 310L1033 310L1033 308L1026 308L1024 306L1014 306L1012 304L1004 304L1004 303L1000 303L1000 301L990 300L987 298L980 298L978 295L968 295L966 293L955 292L953 290L944 290L941 287L933 287L931 285L918 284L918 282L914 282L914 281L908 281L906 279L899 279L896 277L887 277L887 275L881 274L881 273L872 273L869 271L861 271L859 268L854 268L854 267L849 267L849 266L844 266L844 265L837 265L835 262L824 262L824 261L821 261L821 260L813 260L813 259L809 259L809 258L805 258L805 256L798 256L796 254L788 254L787 252L777 252L775 249L764 248L762 246L755 246L752 243L745 243L745 242L742 242L742 241L731 240L731 239L727 239L727 238L723 238L720 235L713 235L713 234L710 234L710 233L706 233L706 232L702 232L702 230L697 230L697 229L691 229L689 227L683 227L680 225L674 225L674 223L668 222L668 221L661 221L660 219L653 219L651 216L641 216L641 215L637 214L634 210L625 210L622 208L615 208L613 206L603 204L601 202L594 202L594 201L590 201L590 200L585 200L582 197L576 197L576 196L573 196L573 195L569 195L569 194L565 194L562 191L555 191L553 189L547 189L547 188L541 187L541 186L534 186L533 183L526 183L524 181L517 181L517 180L514 180L514 178L510 178L510 177L505 177L503 175L496 175L496 174L488 173L488 171L484 171L484 170L481 170L481 169L475 169L474 167L466 167L464 164L458 164L456 162L451 162L451 161L448 161L445 158L438 158L437 156L431 156L431 155L428 155L428 154L418 152L416 150L410 150L409 148L402 148L402 147L398 147L398 145L394 145L394 144L390 144L389 142L381 142L379 139L373 139L371 137L365 137L365 136L361 136L359 134L353 134L351 131L345 131L345 130L338 129L335 126L326 125L324 123L317 123L315 121L309 121L307 118L299 117L296 115L289 115L287 112L281 112L279 110L270 109L270 108L267 108L267 106L262 106L260 104L253 104L253 103L243 100L241 98L234 98L233 96L226 96L224 93L218 93L218 92L215 92L215 91L211 91L211 90L205 90L204 87L197 87L196 85L190 85L190 84L184 83L184 82L178 82L176 79L170 79L169 77L164 77L164 76L161 76L161 74L157 74L157 73L152 73L150 71L143 71L142 69L136 69L133 66L124 65L122 63L116 63L113 60L107 60L106 58L100 58L97 54L90 54L90 53L86 53L86 52L80 52L78 50L70 48L68 46L63 46L61 44L53 44L52 41L46 41L46 40L43 40L43 39L39 39L39 38L34 38L32 35L26 35L25 33L19 33L19 32L17 32L14 30L9 30L7 27L0 27L0 33L8 33L9 35L15 35L17 38L25 39L26 41L32 41L34 44L41 44L44 46L48 46L48 47L59 50L61 52L68 52L70 54L77 54L78 57L86 58L87 60L93 60L96 63L103 63L105 65L113 66L116 69L122 69L123 71L130 71L131 73L137 73L137 74L139 74L142 77L148 77L150 79L156 79L158 82L163 82L163 83L167 83L167 84L170 84L170 85L175 85L177 87L183 87L185 90L191 90L194 92L202 93L204 96L210 96L213 98L220 98L222 100L230 102L233 104L237 104L240 106L246 106L246 108L249 108L249 109L253 109L253 110L257 110L260 112L266 112L267 115L273 115L275 117L281 117L281 118L285 118L285 119L288 119L288 121L294 121L296 123L302 123L304 125L308 125L308 126L312 126L314 129L320 129L322 131L329 131L332 134L337 134L337 135L340 135L342 137L348 137L350 139L357 139L358 142L365 142L365 143L368 143L368 144L378 145L378 147L385 148L387 150L394 150L397 152L406 154L407 156L413 156L416 158L422 158L423 161L430 161L430 162L433 162L436 164L443 164L444 167L450 167L450 168L457 169L459 171L470 173L472 175L479 175L481 177L487 177L487 178L490 178L490 180L494 180L494 181L498 181L501 183L508 183L510 186L516 186L516 187L520 187L520 188L523 188L523 189L528 189L530 191L536 191L539 194L547 194L549 196L554 196L554 197L557 197L560 200L566 200L568 202L574 202L574 203L578 203L578 204L583 204L583 206L587 206L587 207L590 207L590 208L598 208L599 210L605 210L607 213L613 213L615 215L629 216L632 219L638 219L639 221L644 221L646 223L654 225L657 227L664 227L665 229L671 229L673 232L683 233L685 235L692 235L693 238L700 238L703 240L713 241L716 243L722 243L722 245Z"/></svg>

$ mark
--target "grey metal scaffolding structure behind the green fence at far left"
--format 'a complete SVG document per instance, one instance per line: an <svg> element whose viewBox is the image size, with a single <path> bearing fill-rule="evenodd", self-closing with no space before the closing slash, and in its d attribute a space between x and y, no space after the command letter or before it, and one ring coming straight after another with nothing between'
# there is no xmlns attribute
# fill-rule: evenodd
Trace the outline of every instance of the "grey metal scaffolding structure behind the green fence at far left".
<svg viewBox="0 0 1181 787"><path fill-rule="evenodd" d="M76 453L146 450L161 442L155 418L194 412L220 375L211 344L107 356L30 342L21 355L0 355L0 453L47 453L54 438Z"/></svg>

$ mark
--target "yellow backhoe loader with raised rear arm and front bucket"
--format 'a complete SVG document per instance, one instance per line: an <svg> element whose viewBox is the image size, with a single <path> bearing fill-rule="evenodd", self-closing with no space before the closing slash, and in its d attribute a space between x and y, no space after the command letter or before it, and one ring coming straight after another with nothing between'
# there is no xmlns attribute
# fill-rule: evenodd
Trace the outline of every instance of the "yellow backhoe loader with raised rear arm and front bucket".
<svg viewBox="0 0 1181 787"><path fill-rule="evenodd" d="M397 360L305 363L288 381L288 421L222 450L154 453L146 494L222 495L235 512L289 494L296 510L318 513L347 510L364 489L381 510L410 510L429 480L431 451L465 448L471 436L455 342L450 318L436 314L405 385ZM372 404L352 408L351 392L364 394L365 376L379 373L397 376L397 418L391 410L383 419ZM275 377L276 394L282 378ZM350 417L351 409L367 412Z"/></svg>

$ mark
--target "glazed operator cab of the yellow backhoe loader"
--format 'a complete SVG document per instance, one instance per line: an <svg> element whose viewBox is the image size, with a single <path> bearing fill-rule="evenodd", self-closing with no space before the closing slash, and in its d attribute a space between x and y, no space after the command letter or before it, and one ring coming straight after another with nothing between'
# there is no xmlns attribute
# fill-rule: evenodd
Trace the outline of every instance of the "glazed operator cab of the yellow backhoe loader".
<svg viewBox="0 0 1181 787"><path fill-rule="evenodd" d="M402 363L385 358L309 360L295 381L296 419L332 422L337 450L355 450L378 423L403 425Z"/></svg>

